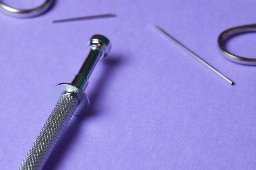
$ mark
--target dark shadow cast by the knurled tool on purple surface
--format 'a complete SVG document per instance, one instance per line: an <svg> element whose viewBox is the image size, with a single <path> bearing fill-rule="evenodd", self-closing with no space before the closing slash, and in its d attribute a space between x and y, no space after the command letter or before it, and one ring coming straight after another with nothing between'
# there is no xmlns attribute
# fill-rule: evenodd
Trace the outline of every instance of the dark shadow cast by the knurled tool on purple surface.
<svg viewBox="0 0 256 170"><path fill-rule="evenodd" d="M104 63L103 65L105 68L103 69L101 76L99 76L99 81L95 85L95 88L91 93L92 95L89 96L91 105L88 112L85 114L85 116L73 116L73 118L71 118L73 120L71 120L70 123L67 125L61 138L59 139L51 155L46 161L43 170L55 170L58 164L63 160L63 157L67 154L67 150L69 146L72 144L72 141L76 137L79 137L77 135L80 127L82 126L82 123L88 117L99 114L99 111L97 110L97 102L102 94L101 92L104 90L104 87L108 85L106 80L109 79L109 77L111 77L111 73L117 69L118 65L120 65L121 58L112 55L106 59L103 59L100 62Z"/></svg>

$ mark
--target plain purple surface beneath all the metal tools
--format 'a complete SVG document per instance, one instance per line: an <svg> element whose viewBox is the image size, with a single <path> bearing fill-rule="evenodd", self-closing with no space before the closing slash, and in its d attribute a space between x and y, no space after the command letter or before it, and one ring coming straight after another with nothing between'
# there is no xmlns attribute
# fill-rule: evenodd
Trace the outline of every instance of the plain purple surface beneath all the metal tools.
<svg viewBox="0 0 256 170"><path fill-rule="evenodd" d="M25 8L43 0L4 2ZM112 50L90 77L90 109L72 117L45 169L254 169L256 67L222 57L217 38L256 23L255 7L255 0L56 0L40 17L0 13L0 169L18 168L53 109L52 87L72 80L97 33ZM103 13L117 17L50 22ZM251 33L228 48L256 57L255 44Z"/></svg>

